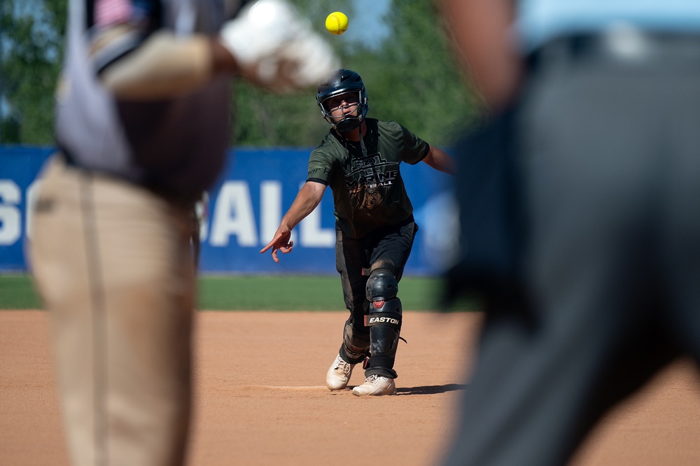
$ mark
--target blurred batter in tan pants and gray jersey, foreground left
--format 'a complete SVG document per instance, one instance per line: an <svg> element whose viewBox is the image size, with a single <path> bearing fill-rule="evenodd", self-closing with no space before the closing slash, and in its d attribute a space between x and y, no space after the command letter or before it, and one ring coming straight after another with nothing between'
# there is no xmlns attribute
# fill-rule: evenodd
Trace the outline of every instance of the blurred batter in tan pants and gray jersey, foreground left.
<svg viewBox="0 0 700 466"><path fill-rule="evenodd" d="M192 206L225 161L230 80L286 92L337 66L285 1L237 3L69 2L30 251L73 465L184 462Z"/></svg>

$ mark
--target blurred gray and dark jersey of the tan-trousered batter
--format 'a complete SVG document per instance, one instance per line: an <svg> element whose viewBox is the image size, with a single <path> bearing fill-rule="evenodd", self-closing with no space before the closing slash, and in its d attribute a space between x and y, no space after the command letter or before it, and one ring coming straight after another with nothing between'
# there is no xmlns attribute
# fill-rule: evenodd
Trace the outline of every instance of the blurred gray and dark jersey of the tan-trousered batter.
<svg viewBox="0 0 700 466"><path fill-rule="evenodd" d="M117 101L97 80L88 54L93 3L70 0L66 62L57 95L59 147L85 169L125 178L167 197L197 198L214 182L225 159L229 78L217 78L177 99ZM228 19L221 0L153 4L159 26L178 35L216 34Z"/></svg>

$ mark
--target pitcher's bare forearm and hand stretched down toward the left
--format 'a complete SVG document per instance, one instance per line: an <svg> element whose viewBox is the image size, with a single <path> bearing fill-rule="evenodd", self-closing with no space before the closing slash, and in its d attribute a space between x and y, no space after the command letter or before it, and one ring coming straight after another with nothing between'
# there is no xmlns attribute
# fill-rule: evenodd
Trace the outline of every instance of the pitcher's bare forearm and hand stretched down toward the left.
<svg viewBox="0 0 700 466"><path fill-rule="evenodd" d="M294 199L292 206L282 217L279 227L277 227L277 231L274 233L274 238L267 243L265 248L260 250L260 254L272 248L272 260L279 264L277 251L281 250L283 254L292 251L294 241L290 241L290 237L293 228L304 220L309 213L316 209L316 206L318 206L318 204L321 203L321 199L323 199L323 192L325 192L325 185L323 183L316 183L315 181L307 181L304 183L297 193L297 197Z"/></svg>

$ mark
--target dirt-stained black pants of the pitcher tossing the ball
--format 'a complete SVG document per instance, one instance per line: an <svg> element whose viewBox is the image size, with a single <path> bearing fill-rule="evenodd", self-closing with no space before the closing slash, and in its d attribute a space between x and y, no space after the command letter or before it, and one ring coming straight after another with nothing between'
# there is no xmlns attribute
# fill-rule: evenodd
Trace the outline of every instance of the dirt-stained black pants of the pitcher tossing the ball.
<svg viewBox="0 0 700 466"><path fill-rule="evenodd" d="M362 238L351 238L336 227L335 262L340 274L345 307L350 317L345 323L341 357L347 362L362 362L370 357L370 327L364 318L369 311L367 278L372 267L386 267L401 280L403 269L411 253L418 225L411 216L399 225L382 227ZM392 367L388 370L367 369L365 376L377 373L395 378Z"/></svg>

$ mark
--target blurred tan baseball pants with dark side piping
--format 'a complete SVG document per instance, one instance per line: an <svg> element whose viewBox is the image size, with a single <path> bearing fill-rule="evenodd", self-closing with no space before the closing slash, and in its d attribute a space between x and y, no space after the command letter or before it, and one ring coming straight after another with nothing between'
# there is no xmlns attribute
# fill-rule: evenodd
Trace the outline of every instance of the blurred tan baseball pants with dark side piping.
<svg viewBox="0 0 700 466"><path fill-rule="evenodd" d="M31 265L73 465L180 465L195 280L188 212L131 183L48 162Z"/></svg>

